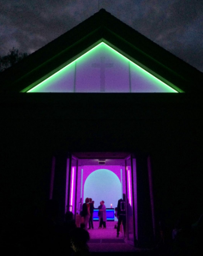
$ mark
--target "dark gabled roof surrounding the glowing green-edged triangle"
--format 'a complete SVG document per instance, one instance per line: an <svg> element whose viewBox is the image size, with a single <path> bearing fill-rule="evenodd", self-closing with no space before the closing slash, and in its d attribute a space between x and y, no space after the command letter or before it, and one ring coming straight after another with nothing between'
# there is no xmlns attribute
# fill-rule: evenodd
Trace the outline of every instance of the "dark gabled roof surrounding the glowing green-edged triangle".
<svg viewBox="0 0 203 256"><path fill-rule="evenodd" d="M0 74L0 91L20 92L64 63L108 42L141 67L184 92L203 91L203 73L101 9L65 34ZM162 80L163 80L162 79Z"/></svg>

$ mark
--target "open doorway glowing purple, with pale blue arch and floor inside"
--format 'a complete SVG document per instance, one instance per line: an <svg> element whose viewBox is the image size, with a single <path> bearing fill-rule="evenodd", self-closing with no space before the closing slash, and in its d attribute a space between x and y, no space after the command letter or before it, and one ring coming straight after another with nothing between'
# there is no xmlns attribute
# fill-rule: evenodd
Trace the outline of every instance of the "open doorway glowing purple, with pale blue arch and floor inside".
<svg viewBox="0 0 203 256"><path fill-rule="evenodd" d="M75 152L67 161L66 210L73 212L75 219L82 210L85 198L95 201L93 215L94 230L91 240L105 242L117 239L131 245L136 242L137 196L136 163L130 153L125 152ZM107 211L107 229L98 229L98 206L103 200ZM116 208L123 200L122 211L125 219L119 228Z"/></svg>

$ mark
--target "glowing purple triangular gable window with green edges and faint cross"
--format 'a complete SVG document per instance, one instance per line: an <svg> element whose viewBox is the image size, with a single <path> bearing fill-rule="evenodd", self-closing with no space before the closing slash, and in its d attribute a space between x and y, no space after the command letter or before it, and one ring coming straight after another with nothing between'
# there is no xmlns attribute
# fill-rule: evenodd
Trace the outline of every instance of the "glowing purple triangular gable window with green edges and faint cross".
<svg viewBox="0 0 203 256"><path fill-rule="evenodd" d="M177 93L108 44L101 42L27 92Z"/></svg>

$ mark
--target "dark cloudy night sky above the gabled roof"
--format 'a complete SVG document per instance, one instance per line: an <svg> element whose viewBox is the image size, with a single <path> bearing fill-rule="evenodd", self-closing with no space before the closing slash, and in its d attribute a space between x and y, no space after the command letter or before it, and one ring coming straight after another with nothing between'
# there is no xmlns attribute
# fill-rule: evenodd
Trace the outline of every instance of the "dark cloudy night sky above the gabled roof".
<svg viewBox="0 0 203 256"><path fill-rule="evenodd" d="M100 0L115 17L203 72L203 0ZM98 0L0 0L0 55L32 53L98 11Z"/></svg>

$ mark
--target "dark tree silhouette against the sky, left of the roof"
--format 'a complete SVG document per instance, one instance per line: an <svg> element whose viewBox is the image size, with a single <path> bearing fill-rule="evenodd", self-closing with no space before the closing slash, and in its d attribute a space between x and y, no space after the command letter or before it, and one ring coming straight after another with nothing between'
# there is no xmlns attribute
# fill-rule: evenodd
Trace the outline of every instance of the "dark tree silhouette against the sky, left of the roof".
<svg viewBox="0 0 203 256"><path fill-rule="evenodd" d="M8 51L6 56L0 56L0 71L4 71L5 69L13 66L15 63L27 57L27 53L19 52L18 49L13 47Z"/></svg>

